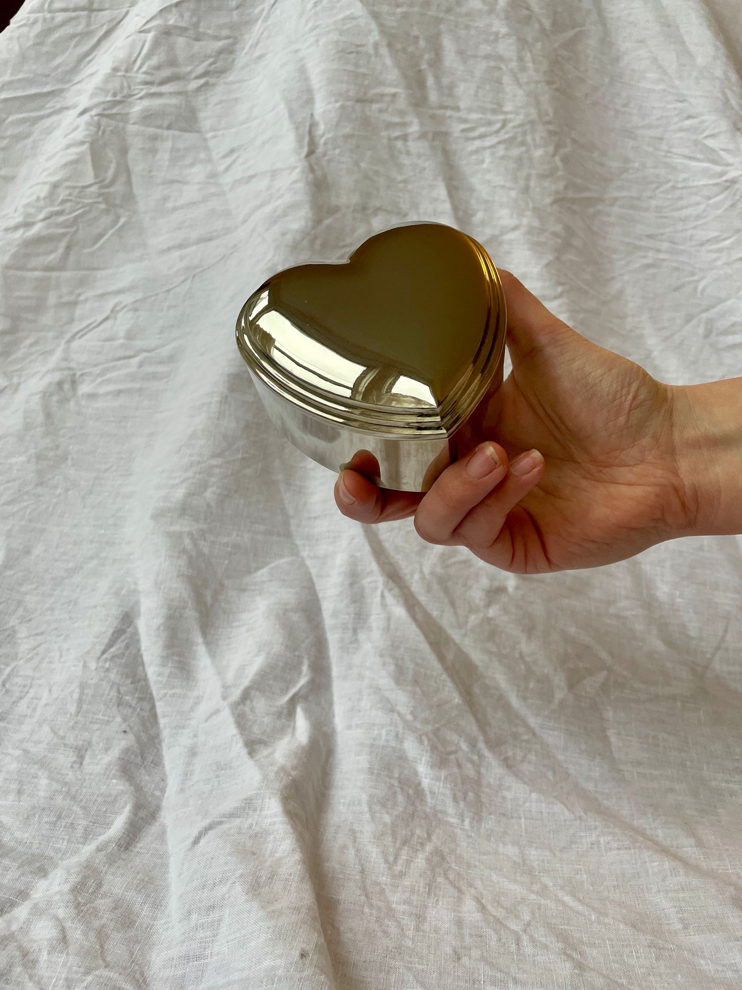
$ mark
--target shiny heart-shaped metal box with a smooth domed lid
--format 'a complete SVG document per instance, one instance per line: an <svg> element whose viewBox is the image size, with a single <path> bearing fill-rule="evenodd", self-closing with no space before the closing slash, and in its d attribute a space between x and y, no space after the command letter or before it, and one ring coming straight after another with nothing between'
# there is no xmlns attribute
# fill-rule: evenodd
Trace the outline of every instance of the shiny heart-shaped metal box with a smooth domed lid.
<svg viewBox="0 0 742 990"><path fill-rule="evenodd" d="M279 272L237 319L270 418L333 470L358 449L388 488L426 490L502 381L505 296L472 238L443 224L376 234L340 264Z"/></svg>

